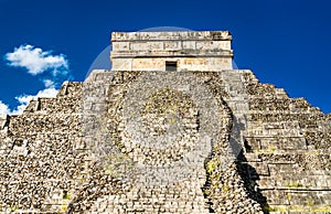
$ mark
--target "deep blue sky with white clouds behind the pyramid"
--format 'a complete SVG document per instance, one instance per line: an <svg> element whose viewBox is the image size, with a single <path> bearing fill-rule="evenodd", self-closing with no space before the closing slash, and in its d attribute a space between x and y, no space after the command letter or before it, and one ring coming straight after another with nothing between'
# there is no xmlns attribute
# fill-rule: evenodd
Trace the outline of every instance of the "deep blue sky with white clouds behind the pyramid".
<svg viewBox="0 0 331 214"><path fill-rule="evenodd" d="M0 108L84 81L113 31L179 26L231 31L239 68L331 113L330 10L328 0L0 0Z"/></svg>

